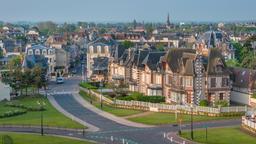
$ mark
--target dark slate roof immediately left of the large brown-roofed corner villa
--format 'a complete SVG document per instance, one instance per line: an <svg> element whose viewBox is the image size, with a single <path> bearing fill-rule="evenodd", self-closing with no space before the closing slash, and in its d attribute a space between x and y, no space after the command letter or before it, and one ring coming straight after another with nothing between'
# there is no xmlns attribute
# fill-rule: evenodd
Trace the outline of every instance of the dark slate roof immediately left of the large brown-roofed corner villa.
<svg viewBox="0 0 256 144"><path fill-rule="evenodd" d="M150 52L143 60L142 64L147 65L152 71L158 71L162 68L160 60L164 55L165 52Z"/></svg>

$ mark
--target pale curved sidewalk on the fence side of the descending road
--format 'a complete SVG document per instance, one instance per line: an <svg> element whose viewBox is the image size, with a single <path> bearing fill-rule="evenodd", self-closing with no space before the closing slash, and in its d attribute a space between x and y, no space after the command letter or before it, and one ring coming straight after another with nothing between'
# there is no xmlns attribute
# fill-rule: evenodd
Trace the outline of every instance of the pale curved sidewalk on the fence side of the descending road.
<svg viewBox="0 0 256 144"><path fill-rule="evenodd" d="M84 100L79 94L73 94L73 97L82 106L84 106L84 107L90 109L91 111L99 114L100 116L105 117L107 119L110 119L110 120L112 120L112 121L114 121L116 123L119 123L119 124L122 124L122 125L126 125L126 126L131 126L131 127L137 127L137 128L150 128L150 127L154 127L154 126L151 126L151 125L145 125L145 124L131 122L131 121L128 121L128 120L126 120L124 118L120 118L120 117L117 117L117 116L112 115L110 113L107 113L105 111L102 111L102 110L96 108L95 106L91 105L86 100Z"/></svg>

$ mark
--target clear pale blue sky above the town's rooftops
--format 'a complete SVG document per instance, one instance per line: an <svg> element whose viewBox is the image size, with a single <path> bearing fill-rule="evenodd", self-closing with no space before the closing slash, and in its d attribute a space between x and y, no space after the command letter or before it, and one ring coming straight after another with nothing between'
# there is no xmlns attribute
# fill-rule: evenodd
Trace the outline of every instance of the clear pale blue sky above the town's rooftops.
<svg viewBox="0 0 256 144"><path fill-rule="evenodd" d="M55 22L255 21L256 0L0 0L0 20Z"/></svg>

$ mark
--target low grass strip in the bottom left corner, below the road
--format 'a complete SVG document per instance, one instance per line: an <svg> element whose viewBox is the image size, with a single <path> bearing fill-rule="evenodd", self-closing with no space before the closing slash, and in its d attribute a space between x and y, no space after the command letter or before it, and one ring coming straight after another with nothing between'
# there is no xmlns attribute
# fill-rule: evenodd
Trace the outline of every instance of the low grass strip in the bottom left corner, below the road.
<svg viewBox="0 0 256 144"><path fill-rule="evenodd" d="M12 138L14 144L92 144L92 142L62 138L57 136L40 136L37 134L20 133L0 133L0 143L2 136L8 135Z"/></svg>

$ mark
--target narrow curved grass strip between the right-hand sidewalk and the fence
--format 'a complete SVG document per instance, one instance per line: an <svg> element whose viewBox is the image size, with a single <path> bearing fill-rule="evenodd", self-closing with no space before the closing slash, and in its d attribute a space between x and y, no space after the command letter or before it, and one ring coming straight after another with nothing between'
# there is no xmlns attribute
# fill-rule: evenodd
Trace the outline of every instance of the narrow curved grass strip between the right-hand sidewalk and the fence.
<svg viewBox="0 0 256 144"><path fill-rule="evenodd" d="M90 102L91 98L88 96L85 92L80 91L80 95L88 102ZM100 109L100 102L95 99L95 97L92 97L93 99L93 105ZM138 113L142 113L143 111L140 110L132 110L132 109L122 109L122 108L115 108L106 104L103 104L102 107L103 111L109 112L113 115L124 117L129 115L134 115Z"/></svg>

